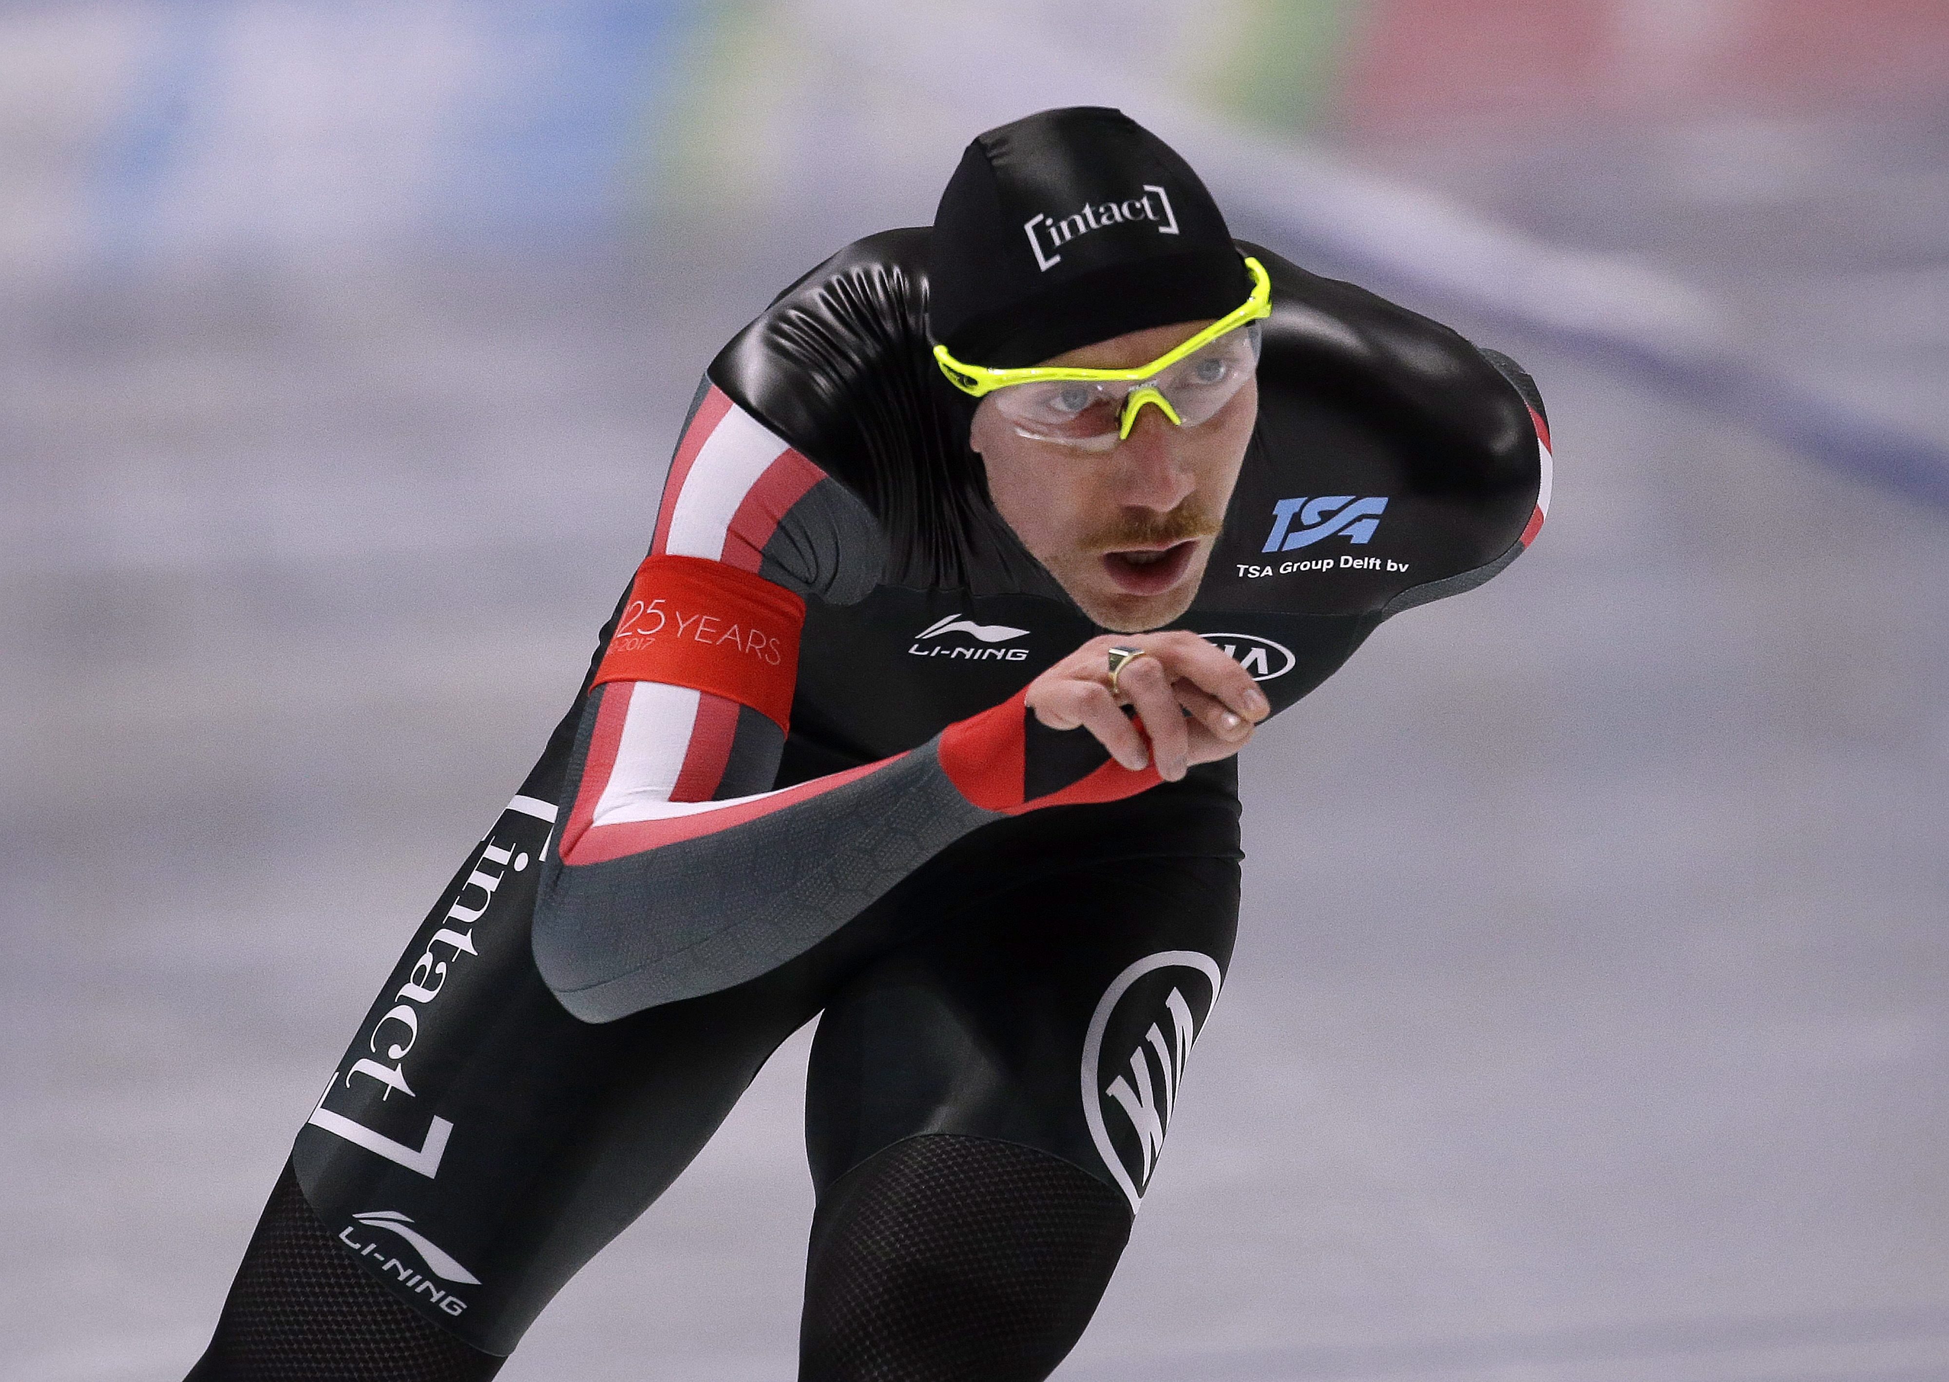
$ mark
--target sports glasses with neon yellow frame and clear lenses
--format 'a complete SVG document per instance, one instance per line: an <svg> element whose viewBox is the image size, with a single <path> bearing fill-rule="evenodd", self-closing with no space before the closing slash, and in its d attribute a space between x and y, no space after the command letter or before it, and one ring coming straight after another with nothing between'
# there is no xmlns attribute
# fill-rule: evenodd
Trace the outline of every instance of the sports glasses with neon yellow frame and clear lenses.
<svg viewBox="0 0 1949 1382"><path fill-rule="evenodd" d="M1148 365L1091 370L1062 365L986 368L963 365L945 345L934 361L971 398L996 396L996 407L1023 437L1084 450L1109 450L1130 435L1144 403L1177 427L1197 427L1224 407L1259 363L1257 322L1273 314L1273 279L1245 257L1251 296L1234 312ZM1240 331L1240 327L1249 327Z"/></svg>

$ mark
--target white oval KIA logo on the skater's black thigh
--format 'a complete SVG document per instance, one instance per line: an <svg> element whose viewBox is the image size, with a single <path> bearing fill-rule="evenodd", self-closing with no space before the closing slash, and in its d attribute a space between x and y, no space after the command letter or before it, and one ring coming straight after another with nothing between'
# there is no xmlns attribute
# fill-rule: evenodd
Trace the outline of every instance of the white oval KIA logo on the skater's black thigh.
<svg viewBox="0 0 1949 1382"><path fill-rule="evenodd" d="M1089 1017L1084 1121L1132 1214L1158 1166L1191 1043L1222 982L1210 955L1158 951L1117 975Z"/></svg>

